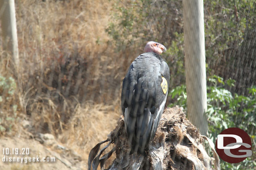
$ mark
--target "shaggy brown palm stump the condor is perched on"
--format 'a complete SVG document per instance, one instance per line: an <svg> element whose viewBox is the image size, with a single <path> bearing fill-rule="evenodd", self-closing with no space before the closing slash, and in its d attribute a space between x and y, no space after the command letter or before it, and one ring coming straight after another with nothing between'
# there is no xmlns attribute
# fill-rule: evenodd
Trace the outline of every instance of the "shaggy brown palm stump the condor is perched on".
<svg viewBox="0 0 256 170"><path fill-rule="evenodd" d="M108 144L99 152L100 146L105 142ZM207 154L205 144L211 148L213 157ZM112 150L109 149L109 152L102 155L108 147ZM199 130L186 119L183 108L178 106L165 109L146 156L137 153L130 155L130 150L123 116L121 116L107 140L100 142L91 150L88 169L91 170L92 166L93 170L97 170L99 165L101 169L104 169L104 166L107 166L106 160L113 152L115 152L115 158L108 165L107 170L220 169L219 157L214 150L213 142L200 134Z"/></svg>

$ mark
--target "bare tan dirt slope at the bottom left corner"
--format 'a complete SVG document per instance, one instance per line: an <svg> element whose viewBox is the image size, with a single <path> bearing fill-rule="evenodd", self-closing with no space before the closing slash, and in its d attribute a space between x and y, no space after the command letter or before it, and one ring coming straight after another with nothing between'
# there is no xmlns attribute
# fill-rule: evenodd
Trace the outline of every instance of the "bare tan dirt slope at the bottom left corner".
<svg viewBox="0 0 256 170"><path fill-rule="evenodd" d="M42 134L35 139L1 137L0 146L1 170L81 170L86 169L87 166L86 162L81 160L80 155L59 145L51 134ZM16 154L16 148L18 148L18 154ZM29 151L26 148L29 148ZM6 152L3 154L3 151L7 150L9 154ZM29 155L26 152L29 152ZM16 162L10 162L9 159L13 160L13 157L16 157ZM29 157L31 157L31 162L29 162ZM39 162L32 162L33 157L34 161ZM44 160L46 162L43 162Z"/></svg>

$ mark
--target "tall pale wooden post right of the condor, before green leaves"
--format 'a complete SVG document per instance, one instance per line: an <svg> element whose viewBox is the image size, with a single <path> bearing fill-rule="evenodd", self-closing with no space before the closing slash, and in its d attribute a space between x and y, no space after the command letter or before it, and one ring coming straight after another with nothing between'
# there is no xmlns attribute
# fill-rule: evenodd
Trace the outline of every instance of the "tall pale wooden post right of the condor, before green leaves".
<svg viewBox="0 0 256 170"><path fill-rule="evenodd" d="M207 93L203 0L183 0L188 119L206 134Z"/></svg>

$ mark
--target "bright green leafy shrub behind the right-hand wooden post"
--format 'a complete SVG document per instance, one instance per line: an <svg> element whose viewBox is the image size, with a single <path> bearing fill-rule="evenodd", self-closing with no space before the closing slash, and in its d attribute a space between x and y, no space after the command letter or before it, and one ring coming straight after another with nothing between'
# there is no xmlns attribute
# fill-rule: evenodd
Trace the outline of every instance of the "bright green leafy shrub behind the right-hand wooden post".
<svg viewBox="0 0 256 170"><path fill-rule="evenodd" d="M208 136L215 142L217 135L229 127L238 127L246 131L252 140L252 148L256 146L256 86L248 88L249 95L243 96L232 94L228 89L235 86L235 81L228 79L224 81L219 76L211 76L207 81L207 116L208 116ZM176 104L186 109L187 94L185 85L177 86L170 91L172 99ZM255 151L253 151L255 152ZM230 164L221 161L223 170L253 170L255 168L256 156L252 155L241 163Z"/></svg>

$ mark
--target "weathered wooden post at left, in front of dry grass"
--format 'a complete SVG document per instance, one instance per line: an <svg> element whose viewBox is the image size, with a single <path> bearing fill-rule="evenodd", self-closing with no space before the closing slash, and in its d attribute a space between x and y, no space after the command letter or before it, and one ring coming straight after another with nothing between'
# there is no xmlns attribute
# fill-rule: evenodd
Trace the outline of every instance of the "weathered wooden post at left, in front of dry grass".
<svg viewBox="0 0 256 170"><path fill-rule="evenodd" d="M13 63L18 66L18 38L14 0L0 0L0 19L3 50L11 52Z"/></svg>

